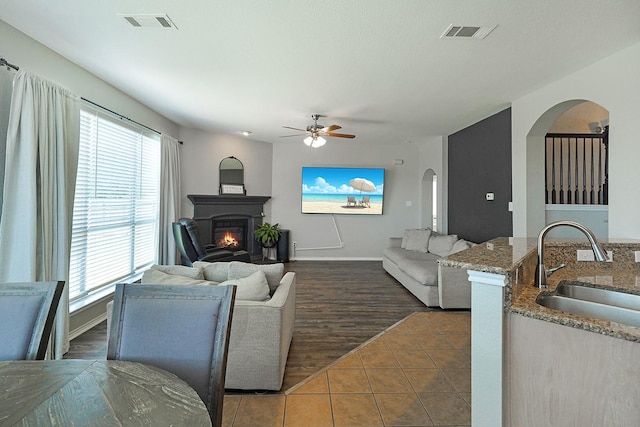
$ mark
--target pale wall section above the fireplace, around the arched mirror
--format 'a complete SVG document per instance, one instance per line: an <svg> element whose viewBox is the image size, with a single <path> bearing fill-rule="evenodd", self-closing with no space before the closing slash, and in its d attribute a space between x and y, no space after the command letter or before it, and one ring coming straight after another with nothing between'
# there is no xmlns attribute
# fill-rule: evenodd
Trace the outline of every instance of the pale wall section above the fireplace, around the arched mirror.
<svg viewBox="0 0 640 427"><path fill-rule="evenodd" d="M241 136L218 135L196 129L181 128L181 216L193 217L189 194L218 194L220 161L234 156L244 166L247 196L271 195L272 146ZM265 214L271 201L265 204Z"/></svg>

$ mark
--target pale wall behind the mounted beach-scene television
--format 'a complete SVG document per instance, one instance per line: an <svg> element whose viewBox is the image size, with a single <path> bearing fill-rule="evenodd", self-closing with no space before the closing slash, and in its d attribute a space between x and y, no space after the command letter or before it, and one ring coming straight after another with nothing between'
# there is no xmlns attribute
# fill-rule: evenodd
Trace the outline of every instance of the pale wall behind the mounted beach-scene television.
<svg viewBox="0 0 640 427"><path fill-rule="evenodd" d="M274 144L270 221L290 230L290 243L296 241L299 249L296 259L381 259L389 237L402 236L405 228L419 227L422 175L429 167L441 170L440 153L430 156L429 149L424 148L427 145L428 142L371 144L357 139L331 139L314 150L302 141ZM436 165L429 166L430 162L421 161L422 157L435 160ZM404 163L394 165L395 159ZM385 168L383 215L303 215L302 166ZM412 206L407 206L407 202ZM340 239L344 243L342 248L306 250L336 247Z"/></svg>

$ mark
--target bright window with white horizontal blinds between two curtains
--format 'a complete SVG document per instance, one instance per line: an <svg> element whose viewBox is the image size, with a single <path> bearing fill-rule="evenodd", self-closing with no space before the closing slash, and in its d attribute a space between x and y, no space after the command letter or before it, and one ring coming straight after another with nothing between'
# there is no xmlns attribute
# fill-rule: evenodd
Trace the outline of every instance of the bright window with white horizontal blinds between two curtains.
<svg viewBox="0 0 640 427"><path fill-rule="evenodd" d="M73 209L70 299L156 261L160 137L84 105Z"/></svg>

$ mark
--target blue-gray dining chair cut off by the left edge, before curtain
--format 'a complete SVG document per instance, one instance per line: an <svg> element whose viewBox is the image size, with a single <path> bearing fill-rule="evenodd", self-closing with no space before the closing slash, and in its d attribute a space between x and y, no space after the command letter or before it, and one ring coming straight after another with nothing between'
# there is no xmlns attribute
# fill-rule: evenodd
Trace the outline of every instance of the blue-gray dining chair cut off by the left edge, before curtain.
<svg viewBox="0 0 640 427"><path fill-rule="evenodd" d="M43 360L64 281L0 283L0 360Z"/></svg>

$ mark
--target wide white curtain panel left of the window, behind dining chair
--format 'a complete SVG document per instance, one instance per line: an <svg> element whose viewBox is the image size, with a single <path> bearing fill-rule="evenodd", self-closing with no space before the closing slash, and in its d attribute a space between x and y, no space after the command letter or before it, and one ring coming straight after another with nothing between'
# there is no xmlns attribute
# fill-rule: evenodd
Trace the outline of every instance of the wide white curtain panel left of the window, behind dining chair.
<svg viewBox="0 0 640 427"><path fill-rule="evenodd" d="M69 349L68 269L80 99L24 70L14 77L0 217L0 281L64 280L52 336Z"/></svg>

